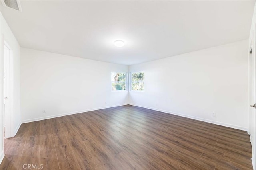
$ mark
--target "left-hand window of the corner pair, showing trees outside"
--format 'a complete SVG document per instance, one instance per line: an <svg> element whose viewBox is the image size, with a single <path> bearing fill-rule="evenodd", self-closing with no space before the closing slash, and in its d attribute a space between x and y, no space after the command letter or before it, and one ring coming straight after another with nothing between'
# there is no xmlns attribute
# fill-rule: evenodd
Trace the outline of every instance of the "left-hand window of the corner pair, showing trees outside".
<svg viewBox="0 0 256 170"><path fill-rule="evenodd" d="M112 91L126 90L126 73L111 72Z"/></svg>

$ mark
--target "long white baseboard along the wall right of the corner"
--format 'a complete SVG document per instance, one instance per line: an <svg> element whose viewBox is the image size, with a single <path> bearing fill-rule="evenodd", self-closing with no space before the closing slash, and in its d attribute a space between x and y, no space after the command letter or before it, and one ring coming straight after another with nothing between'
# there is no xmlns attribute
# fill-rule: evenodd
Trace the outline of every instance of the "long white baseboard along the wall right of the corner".
<svg viewBox="0 0 256 170"><path fill-rule="evenodd" d="M245 127L240 127L240 126L236 126L236 125L231 125L231 124L228 124L228 123L222 123L222 122L218 122L218 121L212 121L212 120L209 120L209 119L202 119L202 118L200 118L200 117L194 117L194 116L190 116L190 115L184 115L184 114L181 114L181 113L175 113L175 112L172 112L172 111L167 111L167 110L162 110L162 109L156 109L156 108L147 107L147 106L141 106L141 105L137 105L137 104L133 104L133 103L129 103L129 104L132 105L132 106L138 106L138 107L143 107L143 108L151 109L151 110L155 110L155 111L161 111L161 112L164 112L164 113L169 113L169 114L172 114L172 115L178 115L178 116L182 116L182 117L187 117L187 118L190 118L190 119L195 119L195 120L199 120L199 121L204 121L204 122L207 122L207 123L213 123L213 124L216 124L216 125L231 127L231 128L239 129L239 130L242 130L242 131L248 131L248 129L245 128Z"/></svg>

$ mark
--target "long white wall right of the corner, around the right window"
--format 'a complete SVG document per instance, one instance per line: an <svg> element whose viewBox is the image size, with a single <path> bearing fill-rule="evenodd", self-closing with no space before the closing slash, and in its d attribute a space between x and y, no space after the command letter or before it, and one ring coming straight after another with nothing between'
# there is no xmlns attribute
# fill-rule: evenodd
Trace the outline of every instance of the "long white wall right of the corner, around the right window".
<svg viewBox="0 0 256 170"><path fill-rule="evenodd" d="M129 66L130 72L145 71L145 92L130 92L129 102L247 130L247 62L244 40Z"/></svg>

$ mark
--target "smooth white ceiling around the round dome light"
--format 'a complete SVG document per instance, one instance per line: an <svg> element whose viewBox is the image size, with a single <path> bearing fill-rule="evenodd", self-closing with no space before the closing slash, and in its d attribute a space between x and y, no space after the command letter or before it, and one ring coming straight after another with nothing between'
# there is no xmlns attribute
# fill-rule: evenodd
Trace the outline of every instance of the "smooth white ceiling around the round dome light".
<svg viewBox="0 0 256 170"><path fill-rule="evenodd" d="M254 3L44 0L1 12L21 47L132 65L248 39Z"/></svg>

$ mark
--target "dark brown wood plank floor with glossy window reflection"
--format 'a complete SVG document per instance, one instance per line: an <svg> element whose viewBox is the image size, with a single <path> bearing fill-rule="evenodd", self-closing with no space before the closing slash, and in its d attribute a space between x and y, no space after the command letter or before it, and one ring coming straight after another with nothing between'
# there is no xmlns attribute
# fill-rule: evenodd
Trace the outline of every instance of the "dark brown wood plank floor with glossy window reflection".
<svg viewBox="0 0 256 170"><path fill-rule="evenodd" d="M248 134L135 106L22 124L1 170L252 170Z"/></svg>

